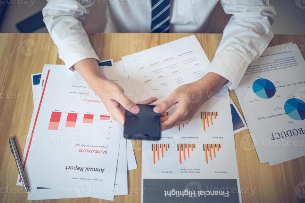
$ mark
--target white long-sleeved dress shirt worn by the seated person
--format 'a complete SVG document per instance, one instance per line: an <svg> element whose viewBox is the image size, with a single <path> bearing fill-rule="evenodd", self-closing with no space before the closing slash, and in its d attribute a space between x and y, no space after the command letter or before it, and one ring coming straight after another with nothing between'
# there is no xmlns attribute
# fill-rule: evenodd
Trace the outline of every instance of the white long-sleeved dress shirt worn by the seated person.
<svg viewBox="0 0 305 203"><path fill-rule="evenodd" d="M213 10L219 0L172 0L171 33L211 31ZM85 58L99 57L82 26L95 0L49 0L43 9L44 22L58 46L59 58L68 68ZM107 4L105 32L149 33L151 0L96 0ZM210 64L209 72L228 79L234 89L249 64L257 59L273 38L275 9L269 0L220 0L231 19ZM216 22L217 23L217 22Z"/></svg>

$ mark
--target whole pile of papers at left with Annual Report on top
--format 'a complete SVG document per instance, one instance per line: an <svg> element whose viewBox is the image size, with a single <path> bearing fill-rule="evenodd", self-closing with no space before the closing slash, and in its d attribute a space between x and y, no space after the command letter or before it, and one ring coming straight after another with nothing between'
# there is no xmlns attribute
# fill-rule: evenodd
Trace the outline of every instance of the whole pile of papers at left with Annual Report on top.
<svg viewBox="0 0 305 203"><path fill-rule="evenodd" d="M113 66L112 60L100 65L105 63ZM101 69L127 87L124 67ZM131 142L121 139L122 127L90 86L64 65L45 65L42 73L32 75L32 87L34 112L23 153L28 200L113 200L128 194L127 167L137 168ZM17 185L22 185L20 177Z"/></svg>

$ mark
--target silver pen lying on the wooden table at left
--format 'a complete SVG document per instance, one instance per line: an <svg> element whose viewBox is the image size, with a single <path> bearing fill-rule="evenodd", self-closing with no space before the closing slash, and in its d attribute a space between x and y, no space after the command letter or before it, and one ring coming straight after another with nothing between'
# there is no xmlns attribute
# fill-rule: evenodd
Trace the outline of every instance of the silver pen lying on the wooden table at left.
<svg viewBox="0 0 305 203"><path fill-rule="evenodd" d="M19 175L20 175L20 178L22 180L25 191L27 193L29 193L29 185L27 184L27 177L24 173L21 158L20 158L20 154L19 154L16 142L15 142L15 139L13 137L9 137L9 146L11 147L12 154L14 155L14 158L15 158L15 161L16 161L16 164L17 164L17 168L18 168L18 171L19 171Z"/></svg>

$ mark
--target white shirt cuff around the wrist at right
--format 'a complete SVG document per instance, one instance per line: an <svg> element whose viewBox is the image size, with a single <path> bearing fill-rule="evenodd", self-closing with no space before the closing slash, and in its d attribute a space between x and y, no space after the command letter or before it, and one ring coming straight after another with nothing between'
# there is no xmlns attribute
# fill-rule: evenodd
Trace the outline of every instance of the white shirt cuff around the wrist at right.
<svg viewBox="0 0 305 203"><path fill-rule="evenodd" d="M214 72L221 75L228 81L222 86L235 89L246 72L249 62L231 52L220 52L215 55L207 72Z"/></svg>

